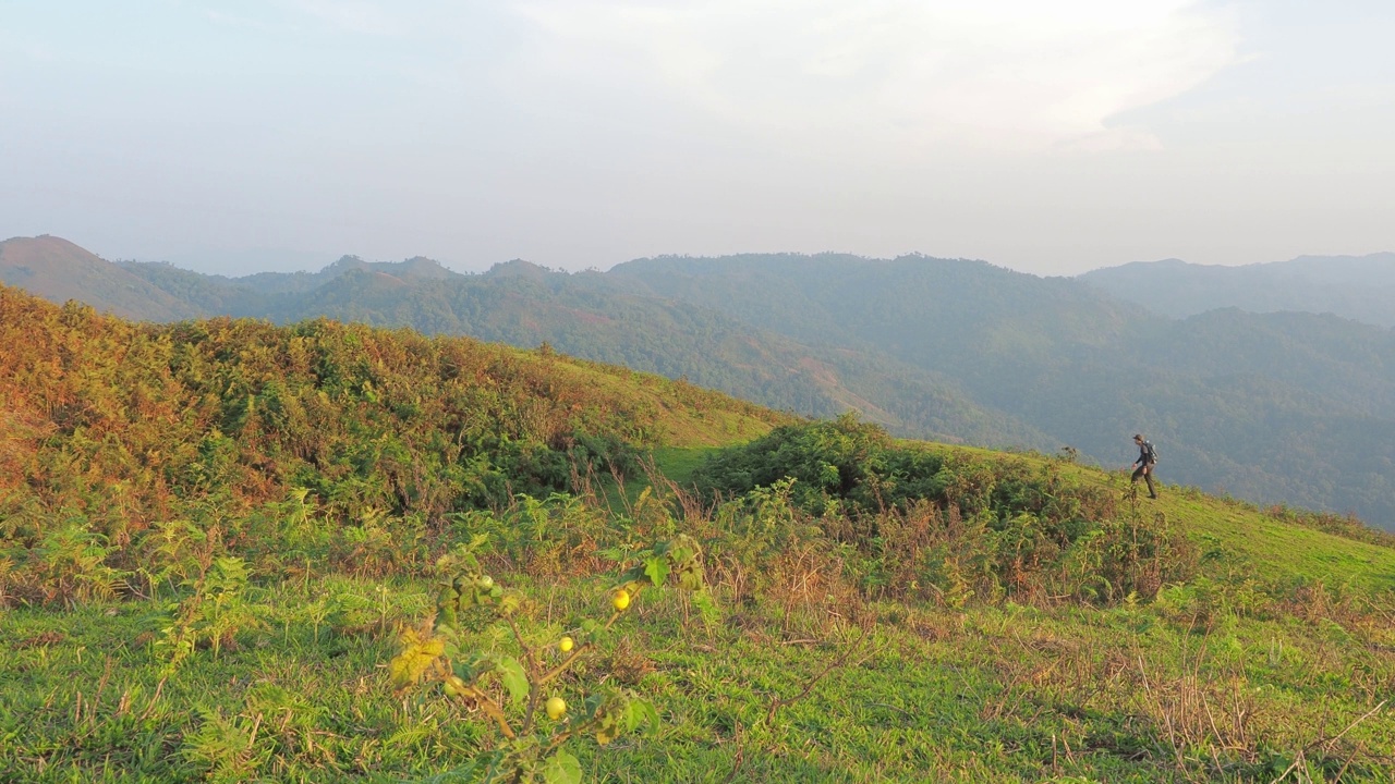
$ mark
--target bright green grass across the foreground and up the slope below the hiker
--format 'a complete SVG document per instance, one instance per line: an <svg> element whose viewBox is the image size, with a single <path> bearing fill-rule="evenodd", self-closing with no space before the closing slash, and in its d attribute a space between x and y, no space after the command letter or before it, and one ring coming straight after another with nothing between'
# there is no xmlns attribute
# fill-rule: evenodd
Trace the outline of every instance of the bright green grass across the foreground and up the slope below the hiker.
<svg viewBox="0 0 1395 784"><path fill-rule="evenodd" d="M681 484L702 455L656 460ZM559 689L579 704L598 679L633 688L661 730L573 751L597 781L1395 781L1395 550L1186 488L1143 504L1202 564L1152 603L953 608L792 580L738 594L713 575L709 626L646 591L619 640ZM495 573L531 597L522 633L540 644L594 615L611 585ZM1286 593L1258 596L1257 578ZM395 695L384 670L430 590L409 575L257 580L259 628L173 670L156 644L169 597L7 610L0 781L458 767L495 742L490 727L438 692ZM353 611L329 612L326 597L354 597L335 604ZM484 632L476 644L508 649Z"/></svg>

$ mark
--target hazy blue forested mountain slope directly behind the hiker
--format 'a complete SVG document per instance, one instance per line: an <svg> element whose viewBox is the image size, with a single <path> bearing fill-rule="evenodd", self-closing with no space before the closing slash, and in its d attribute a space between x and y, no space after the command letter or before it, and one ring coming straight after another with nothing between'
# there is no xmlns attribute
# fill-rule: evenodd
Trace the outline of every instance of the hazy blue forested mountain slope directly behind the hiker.
<svg viewBox="0 0 1395 784"><path fill-rule="evenodd" d="M1395 332L1311 314L1151 315L1070 279L963 259L752 255L617 266L810 345L877 346L1108 466L1395 530Z"/></svg>

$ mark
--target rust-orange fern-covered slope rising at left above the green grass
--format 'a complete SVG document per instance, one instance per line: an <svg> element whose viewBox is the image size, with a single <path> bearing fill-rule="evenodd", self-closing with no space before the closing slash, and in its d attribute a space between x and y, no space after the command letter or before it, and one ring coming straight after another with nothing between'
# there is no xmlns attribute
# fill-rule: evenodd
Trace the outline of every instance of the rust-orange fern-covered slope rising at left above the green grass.
<svg viewBox="0 0 1395 784"><path fill-rule="evenodd" d="M0 515L141 530L310 488L421 520L633 470L788 417L691 384L469 338L311 321L131 324L0 287ZM110 536L105 530L103 536Z"/></svg>

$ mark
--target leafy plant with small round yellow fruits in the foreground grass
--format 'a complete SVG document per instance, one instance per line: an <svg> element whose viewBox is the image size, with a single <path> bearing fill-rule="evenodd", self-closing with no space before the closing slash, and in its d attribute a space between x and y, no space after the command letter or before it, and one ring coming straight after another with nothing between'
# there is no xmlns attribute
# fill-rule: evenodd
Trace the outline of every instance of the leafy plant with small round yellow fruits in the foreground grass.
<svg viewBox="0 0 1395 784"><path fill-rule="evenodd" d="M487 783L576 784L580 762L566 744L583 737L608 744L639 728L657 731L658 711L632 691L608 685L571 709L555 693L558 679L610 640L611 628L644 589L674 582L710 615L714 608L706 593L702 548L692 537L679 536L639 552L638 562L607 591L605 621L587 619L555 643L534 643L520 628L531 619L534 605L483 572L473 554L480 544L483 537L437 564L442 578L435 619L402 632L402 649L388 665L393 686L405 692L439 682L448 699L478 711L502 735L491 751L452 773ZM470 640L488 626L505 628L519 656L473 650ZM554 646L555 653L548 653ZM551 725L543 725L543 716Z"/></svg>

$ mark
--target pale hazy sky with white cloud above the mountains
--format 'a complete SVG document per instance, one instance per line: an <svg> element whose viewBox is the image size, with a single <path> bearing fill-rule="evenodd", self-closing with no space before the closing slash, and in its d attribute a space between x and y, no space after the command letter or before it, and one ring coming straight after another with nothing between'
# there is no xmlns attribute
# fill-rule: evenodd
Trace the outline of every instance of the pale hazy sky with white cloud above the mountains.
<svg viewBox="0 0 1395 784"><path fill-rule="evenodd" d="M0 0L0 239L205 272L1395 250L1395 3Z"/></svg>

